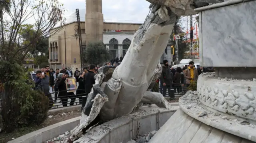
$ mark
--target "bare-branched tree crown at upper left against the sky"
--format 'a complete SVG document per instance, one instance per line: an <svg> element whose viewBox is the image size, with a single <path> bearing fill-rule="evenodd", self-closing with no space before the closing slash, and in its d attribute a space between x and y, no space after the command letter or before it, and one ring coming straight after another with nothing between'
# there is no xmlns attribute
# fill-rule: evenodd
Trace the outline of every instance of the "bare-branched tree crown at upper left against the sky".
<svg viewBox="0 0 256 143"><path fill-rule="evenodd" d="M10 9L0 12L0 59L23 61L33 45L39 40L54 35L63 25L65 11L58 0L8 0ZM31 24L28 22L31 21ZM21 35L30 35L22 39Z"/></svg>

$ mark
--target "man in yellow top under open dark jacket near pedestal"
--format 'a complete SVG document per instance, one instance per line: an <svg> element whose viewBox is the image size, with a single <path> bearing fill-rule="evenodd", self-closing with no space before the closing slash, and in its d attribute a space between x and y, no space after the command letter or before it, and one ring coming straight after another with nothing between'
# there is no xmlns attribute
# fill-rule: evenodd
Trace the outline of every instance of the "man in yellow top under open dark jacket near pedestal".
<svg viewBox="0 0 256 143"><path fill-rule="evenodd" d="M198 79L198 71L194 67L193 61L189 62L189 67L188 67L188 69L185 70L184 77L186 78L187 86L189 86L190 82L196 81Z"/></svg>

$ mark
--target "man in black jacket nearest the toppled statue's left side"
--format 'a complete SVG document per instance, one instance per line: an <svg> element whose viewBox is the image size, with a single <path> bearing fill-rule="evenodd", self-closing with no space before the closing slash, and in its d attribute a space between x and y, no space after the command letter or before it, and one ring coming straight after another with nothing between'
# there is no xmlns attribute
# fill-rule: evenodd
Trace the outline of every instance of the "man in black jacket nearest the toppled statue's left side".
<svg viewBox="0 0 256 143"><path fill-rule="evenodd" d="M95 84L94 72L95 72L95 66L90 65L89 72L84 75L84 86L85 86L86 96L91 92L92 85Z"/></svg>

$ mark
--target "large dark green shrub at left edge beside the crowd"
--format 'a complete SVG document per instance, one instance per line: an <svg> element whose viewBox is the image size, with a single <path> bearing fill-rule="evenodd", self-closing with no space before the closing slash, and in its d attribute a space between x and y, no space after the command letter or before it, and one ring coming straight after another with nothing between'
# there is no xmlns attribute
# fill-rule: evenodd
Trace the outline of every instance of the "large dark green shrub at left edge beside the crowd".
<svg viewBox="0 0 256 143"><path fill-rule="evenodd" d="M4 131L32 123L40 124L46 118L49 99L42 92L35 91L33 84L27 84L25 70L15 62L0 61L1 115Z"/></svg>

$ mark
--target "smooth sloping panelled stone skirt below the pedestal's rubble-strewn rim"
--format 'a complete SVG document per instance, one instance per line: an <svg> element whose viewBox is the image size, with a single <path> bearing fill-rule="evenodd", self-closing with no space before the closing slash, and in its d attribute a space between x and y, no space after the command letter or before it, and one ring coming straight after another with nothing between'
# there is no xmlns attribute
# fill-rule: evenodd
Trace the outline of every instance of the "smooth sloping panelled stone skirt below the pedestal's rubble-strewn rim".
<svg viewBox="0 0 256 143"><path fill-rule="evenodd" d="M181 109L168 119L149 143L254 143L206 125Z"/></svg>

